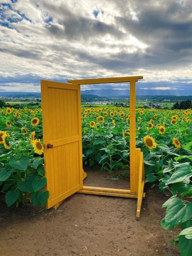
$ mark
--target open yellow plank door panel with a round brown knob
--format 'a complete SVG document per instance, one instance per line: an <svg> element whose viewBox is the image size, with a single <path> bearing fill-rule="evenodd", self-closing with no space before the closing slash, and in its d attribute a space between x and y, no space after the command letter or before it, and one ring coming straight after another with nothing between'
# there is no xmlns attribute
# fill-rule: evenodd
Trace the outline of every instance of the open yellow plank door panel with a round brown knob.
<svg viewBox="0 0 192 256"><path fill-rule="evenodd" d="M50 208L83 187L80 85L42 80L41 98Z"/></svg>

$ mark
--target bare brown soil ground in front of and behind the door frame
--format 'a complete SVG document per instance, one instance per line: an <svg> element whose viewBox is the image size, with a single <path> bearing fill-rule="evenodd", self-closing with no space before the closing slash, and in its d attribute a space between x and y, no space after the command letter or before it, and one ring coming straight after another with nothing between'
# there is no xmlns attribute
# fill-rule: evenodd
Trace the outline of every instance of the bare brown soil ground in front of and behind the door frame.
<svg viewBox="0 0 192 256"><path fill-rule="evenodd" d="M127 188L127 178L113 179L118 175L92 171L84 183ZM135 199L74 194L40 212L0 202L0 256L179 256L170 243L177 232L160 227L168 198L150 186L145 192L140 221Z"/></svg>

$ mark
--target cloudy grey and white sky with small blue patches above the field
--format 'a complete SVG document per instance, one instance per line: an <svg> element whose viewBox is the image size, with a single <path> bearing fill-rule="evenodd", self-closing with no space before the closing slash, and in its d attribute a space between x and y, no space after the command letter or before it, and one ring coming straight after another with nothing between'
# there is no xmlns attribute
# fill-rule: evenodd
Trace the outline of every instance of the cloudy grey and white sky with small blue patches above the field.
<svg viewBox="0 0 192 256"><path fill-rule="evenodd" d="M131 75L143 91L192 89L192 0L0 0L0 91Z"/></svg>

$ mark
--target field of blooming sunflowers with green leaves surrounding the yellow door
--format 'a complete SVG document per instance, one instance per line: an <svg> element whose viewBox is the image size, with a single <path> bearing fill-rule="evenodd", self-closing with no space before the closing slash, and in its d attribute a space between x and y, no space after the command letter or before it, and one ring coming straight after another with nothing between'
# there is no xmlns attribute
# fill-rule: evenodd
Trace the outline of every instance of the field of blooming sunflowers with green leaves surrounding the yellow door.
<svg viewBox="0 0 192 256"><path fill-rule="evenodd" d="M129 108L82 108L84 165L129 172ZM145 182L169 191L164 229L180 226L172 241L192 251L192 110L136 110L136 147L144 152ZM41 108L0 110L0 192L8 206L44 205Z"/></svg>

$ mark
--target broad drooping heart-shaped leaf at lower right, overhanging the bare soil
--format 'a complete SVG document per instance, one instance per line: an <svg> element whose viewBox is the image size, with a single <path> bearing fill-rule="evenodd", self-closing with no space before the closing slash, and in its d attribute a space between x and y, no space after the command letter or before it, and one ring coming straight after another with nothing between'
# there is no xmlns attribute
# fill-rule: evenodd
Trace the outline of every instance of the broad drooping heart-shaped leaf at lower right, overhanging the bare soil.
<svg viewBox="0 0 192 256"><path fill-rule="evenodd" d="M168 225L177 225L185 216L186 207L183 204L173 206L166 211L165 222Z"/></svg>

